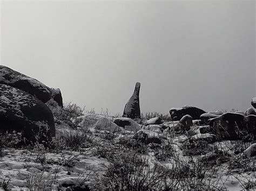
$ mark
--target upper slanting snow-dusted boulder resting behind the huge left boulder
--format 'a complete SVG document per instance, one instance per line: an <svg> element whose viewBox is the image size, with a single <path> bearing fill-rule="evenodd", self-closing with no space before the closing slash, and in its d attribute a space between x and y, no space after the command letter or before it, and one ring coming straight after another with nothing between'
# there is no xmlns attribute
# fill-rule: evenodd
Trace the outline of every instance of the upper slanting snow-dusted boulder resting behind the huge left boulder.
<svg viewBox="0 0 256 191"><path fill-rule="evenodd" d="M51 89L45 84L2 65L0 65L0 83L23 90L44 103L51 99Z"/></svg>

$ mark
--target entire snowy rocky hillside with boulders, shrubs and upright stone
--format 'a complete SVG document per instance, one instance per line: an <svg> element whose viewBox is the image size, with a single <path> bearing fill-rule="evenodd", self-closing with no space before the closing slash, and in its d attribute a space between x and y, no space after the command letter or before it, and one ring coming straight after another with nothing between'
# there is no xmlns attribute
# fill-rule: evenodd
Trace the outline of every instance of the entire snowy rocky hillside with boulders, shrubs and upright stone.
<svg viewBox="0 0 256 191"><path fill-rule="evenodd" d="M140 85L110 116L0 66L0 190L256 189L256 98L246 111L145 114Z"/></svg>

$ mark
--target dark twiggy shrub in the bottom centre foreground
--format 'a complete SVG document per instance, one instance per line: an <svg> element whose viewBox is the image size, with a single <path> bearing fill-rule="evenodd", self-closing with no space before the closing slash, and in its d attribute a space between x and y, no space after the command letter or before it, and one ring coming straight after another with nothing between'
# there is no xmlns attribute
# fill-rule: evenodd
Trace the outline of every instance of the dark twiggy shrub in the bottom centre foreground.
<svg viewBox="0 0 256 191"><path fill-rule="evenodd" d="M149 160L134 152L110 155L110 165L100 175L99 190L172 190L175 181L168 177L168 169L160 165L150 167Z"/></svg>

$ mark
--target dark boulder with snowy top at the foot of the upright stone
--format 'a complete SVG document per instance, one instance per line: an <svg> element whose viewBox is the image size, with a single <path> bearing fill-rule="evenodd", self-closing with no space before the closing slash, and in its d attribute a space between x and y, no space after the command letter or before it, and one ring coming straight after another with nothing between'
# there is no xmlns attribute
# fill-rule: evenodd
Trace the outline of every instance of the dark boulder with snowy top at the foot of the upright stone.
<svg viewBox="0 0 256 191"><path fill-rule="evenodd" d="M138 123L127 117L116 118L113 122L127 131L137 132L142 129Z"/></svg>

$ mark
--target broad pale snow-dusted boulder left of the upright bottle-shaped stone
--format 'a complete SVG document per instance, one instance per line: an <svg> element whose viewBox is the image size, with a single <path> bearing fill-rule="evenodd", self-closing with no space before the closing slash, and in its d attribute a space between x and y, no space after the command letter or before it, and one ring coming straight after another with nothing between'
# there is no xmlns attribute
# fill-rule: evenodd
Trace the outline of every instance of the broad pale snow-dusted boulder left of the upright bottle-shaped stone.
<svg viewBox="0 0 256 191"><path fill-rule="evenodd" d="M123 130L120 126L113 123L111 118L100 114L86 114L77 117L77 121L80 122L78 124L80 128L93 128L100 131L110 132L119 132Z"/></svg>

